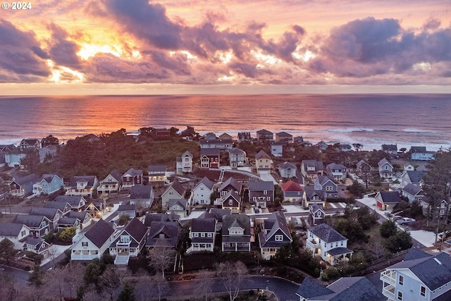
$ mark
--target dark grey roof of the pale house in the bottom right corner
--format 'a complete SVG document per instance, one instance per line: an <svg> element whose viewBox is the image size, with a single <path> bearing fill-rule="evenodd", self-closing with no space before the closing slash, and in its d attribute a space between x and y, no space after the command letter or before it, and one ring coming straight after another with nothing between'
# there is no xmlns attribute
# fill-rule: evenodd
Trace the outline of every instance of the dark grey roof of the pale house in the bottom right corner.
<svg viewBox="0 0 451 301"><path fill-rule="evenodd" d="M387 269L409 269L430 290L451 282L451 257L444 252L431 257L420 257L417 254L414 259L404 259Z"/></svg>

